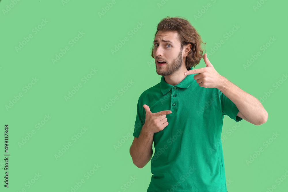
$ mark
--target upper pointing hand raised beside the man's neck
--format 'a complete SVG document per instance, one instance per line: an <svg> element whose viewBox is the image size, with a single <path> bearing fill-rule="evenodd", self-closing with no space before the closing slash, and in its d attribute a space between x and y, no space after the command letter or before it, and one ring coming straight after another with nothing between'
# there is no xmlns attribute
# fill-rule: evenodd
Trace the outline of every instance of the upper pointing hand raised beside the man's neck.
<svg viewBox="0 0 288 192"><path fill-rule="evenodd" d="M205 53L203 56L204 62L206 63L206 67L200 69L192 69L186 71L184 75L196 74L194 75L194 79L199 84L200 87L204 88L218 88L221 84L223 76L217 73L214 69L213 65L210 63L209 59L207 58L207 54Z"/></svg>

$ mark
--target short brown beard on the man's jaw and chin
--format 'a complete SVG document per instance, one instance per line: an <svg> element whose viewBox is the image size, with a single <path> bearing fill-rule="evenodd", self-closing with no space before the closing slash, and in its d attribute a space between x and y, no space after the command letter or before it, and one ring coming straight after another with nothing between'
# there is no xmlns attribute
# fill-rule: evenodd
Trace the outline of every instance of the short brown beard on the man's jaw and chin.
<svg viewBox="0 0 288 192"><path fill-rule="evenodd" d="M177 58L175 58L171 63L166 62L162 66L159 66L156 63L156 73L162 76L172 75L174 73L176 75L177 71L179 71L179 69L182 66L182 61L183 61L183 57L182 57L182 49L181 49Z"/></svg>

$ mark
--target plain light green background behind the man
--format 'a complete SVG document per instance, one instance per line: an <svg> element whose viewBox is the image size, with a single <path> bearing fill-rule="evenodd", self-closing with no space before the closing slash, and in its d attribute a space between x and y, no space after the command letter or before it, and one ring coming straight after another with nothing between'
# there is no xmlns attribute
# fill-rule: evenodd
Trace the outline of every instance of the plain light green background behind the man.
<svg viewBox="0 0 288 192"><path fill-rule="evenodd" d="M257 3L259 9L253 8ZM3 183L4 160L0 160L0 191L73 191L82 179L85 183L76 187L77 192L147 190L150 162L137 168L129 148L138 98L160 82L150 49L156 26L166 16L188 19L207 42L207 53L223 39L221 47L208 56L216 71L257 99L264 98L260 101L269 114L266 123L255 126L242 120L236 128L235 121L224 118L221 137L226 136L222 145L228 191L267 191L273 185L276 189L272 191L287 191L288 81L283 76L288 71L287 5L279 0L2 0L0 154L4 159L4 125L9 125L10 157L8 189ZM99 12L104 14L99 16ZM199 18L194 17L197 14ZM143 25L137 29L138 22ZM232 34L234 25L240 28ZM38 26L41 29L35 34L33 28ZM134 34L129 33L131 30L135 30ZM79 31L85 34L77 39ZM232 35L224 38L229 32ZM33 38L16 50L30 34ZM125 37L128 41L112 54L111 50ZM276 39L272 44L270 37ZM78 41L72 46L71 39ZM263 52L261 47L266 43L269 47ZM53 63L52 59L66 46L69 50ZM245 69L243 65L257 52L261 55ZM195 69L204 66L201 60ZM89 75L92 69L97 72ZM90 79L82 81L85 77ZM33 78L38 81L34 83ZM133 82L129 88L128 81ZM79 83L81 88L65 99ZM25 91L25 86L30 86L29 90ZM272 93L266 96L270 90ZM118 99L107 111L101 111L115 96ZM7 108L10 101L14 103ZM45 121L45 115L51 118ZM41 122L37 130L35 125ZM82 127L87 129L83 134ZM263 142L273 133L279 136L264 147ZM80 137L73 140L77 134ZM25 137L29 139L19 146ZM121 139L122 145L115 149ZM69 142L72 146L65 151L63 145ZM246 160L260 147L264 151L247 165ZM65 153L56 159L58 150ZM87 172L93 174L87 178ZM41 176L35 181L38 173ZM281 176L279 185L276 180Z"/></svg>

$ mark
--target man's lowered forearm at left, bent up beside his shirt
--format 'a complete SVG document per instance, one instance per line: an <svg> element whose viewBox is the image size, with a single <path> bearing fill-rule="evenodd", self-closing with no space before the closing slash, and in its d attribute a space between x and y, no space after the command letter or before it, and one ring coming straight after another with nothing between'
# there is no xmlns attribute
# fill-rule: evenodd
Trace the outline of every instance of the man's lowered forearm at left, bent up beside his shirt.
<svg viewBox="0 0 288 192"><path fill-rule="evenodd" d="M143 128L138 139L130 147L133 163L139 168L143 168L150 161L153 154L152 143L154 134L147 133Z"/></svg>

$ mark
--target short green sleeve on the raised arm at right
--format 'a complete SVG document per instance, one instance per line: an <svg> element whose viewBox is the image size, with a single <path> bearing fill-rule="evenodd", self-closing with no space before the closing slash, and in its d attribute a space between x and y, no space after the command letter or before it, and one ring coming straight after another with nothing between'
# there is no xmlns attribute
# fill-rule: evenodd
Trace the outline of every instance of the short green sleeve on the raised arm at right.
<svg viewBox="0 0 288 192"><path fill-rule="evenodd" d="M226 97L226 95L224 95L220 90L219 95L221 100L222 114L228 115L231 119L233 119L236 122L241 121L242 118L237 116L239 110L236 107L236 105L228 97Z"/></svg>

